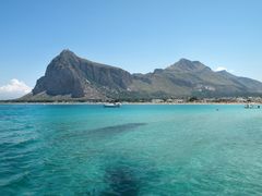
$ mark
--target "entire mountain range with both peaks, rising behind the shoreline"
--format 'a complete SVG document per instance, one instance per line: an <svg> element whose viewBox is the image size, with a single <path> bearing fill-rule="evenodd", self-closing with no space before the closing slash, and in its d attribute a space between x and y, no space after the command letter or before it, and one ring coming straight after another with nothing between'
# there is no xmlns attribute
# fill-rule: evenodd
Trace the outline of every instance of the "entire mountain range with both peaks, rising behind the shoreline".
<svg viewBox="0 0 262 196"><path fill-rule="evenodd" d="M262 94L262 83L199 61L181 59L153 73L129 72L63 50L47 66L31 94L21 100L106 100L168 97L222 97Z"/></svg>

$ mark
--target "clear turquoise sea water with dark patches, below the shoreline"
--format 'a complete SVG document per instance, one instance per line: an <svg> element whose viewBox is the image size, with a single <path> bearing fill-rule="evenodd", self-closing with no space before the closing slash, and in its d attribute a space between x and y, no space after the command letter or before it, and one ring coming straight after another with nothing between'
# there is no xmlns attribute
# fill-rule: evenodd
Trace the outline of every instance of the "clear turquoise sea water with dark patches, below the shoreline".
<svg viewBox="0 0 262 196"><path fill-rule="evenodd" d="M261 194L262 110L0 106L0 195Z"/></svg>

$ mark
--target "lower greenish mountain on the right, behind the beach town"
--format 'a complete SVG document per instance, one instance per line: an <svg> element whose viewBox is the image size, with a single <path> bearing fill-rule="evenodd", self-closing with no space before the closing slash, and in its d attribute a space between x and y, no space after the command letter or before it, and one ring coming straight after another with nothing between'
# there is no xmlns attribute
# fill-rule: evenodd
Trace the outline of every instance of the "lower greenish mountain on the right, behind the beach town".
<svg viewBox="0 0 262 196"><path fill-rule="evenodd" d="M145 75L134 75L133 89L151 95L174 97L247 96L262 93L262 83L235 76L226 71L214 72L199 61L181 59L175 64Z"/></svg>

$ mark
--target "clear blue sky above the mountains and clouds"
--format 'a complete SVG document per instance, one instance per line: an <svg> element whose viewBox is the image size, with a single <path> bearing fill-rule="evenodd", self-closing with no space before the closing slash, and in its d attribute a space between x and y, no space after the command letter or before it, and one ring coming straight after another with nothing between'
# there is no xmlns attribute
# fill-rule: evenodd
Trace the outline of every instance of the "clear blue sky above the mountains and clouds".
<svg viewBox="0 0 262 196"><path fill-rule="evenodd" d="M261 0L1 1L0 98L13 78L34 87L67 48L132 73L187 58L262 81L261 10Z"/></svg>

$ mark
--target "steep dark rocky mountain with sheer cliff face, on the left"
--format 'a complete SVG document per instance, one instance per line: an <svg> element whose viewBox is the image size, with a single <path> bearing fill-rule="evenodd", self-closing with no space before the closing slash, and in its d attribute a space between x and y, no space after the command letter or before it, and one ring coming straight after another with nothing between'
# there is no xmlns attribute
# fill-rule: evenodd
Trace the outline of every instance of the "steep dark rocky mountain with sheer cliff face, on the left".
<svg viewBox="0 0 262 196"><path fill-rule="evenodd" d="M131 74L121 69L87 61L63 50L47 66L45 76L37 81L33 95L46 93L103 99L107 91L127 90L131 81Z"/></svg>

